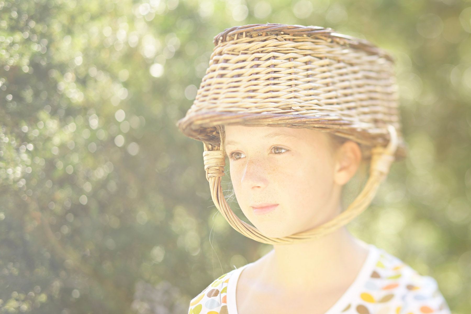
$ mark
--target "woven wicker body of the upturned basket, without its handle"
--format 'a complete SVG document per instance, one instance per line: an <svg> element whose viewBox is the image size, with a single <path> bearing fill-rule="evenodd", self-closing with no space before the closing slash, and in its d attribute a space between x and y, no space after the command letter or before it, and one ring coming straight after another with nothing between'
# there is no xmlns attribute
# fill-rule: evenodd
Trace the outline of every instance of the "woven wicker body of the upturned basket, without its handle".
<svg viewBox="0 0 471 314"><path fill-rule="evenodd" d="M179 121L183 133L217 144L211 135L220 124L311 127L371 148L388 142L391 124L399 137L396 157L405 156L390 55L329 29L262 26L216 36L194 104ZM282 26L284 32L274 30ZM293 32L287 26L297 33L285 33Z"/></svg>

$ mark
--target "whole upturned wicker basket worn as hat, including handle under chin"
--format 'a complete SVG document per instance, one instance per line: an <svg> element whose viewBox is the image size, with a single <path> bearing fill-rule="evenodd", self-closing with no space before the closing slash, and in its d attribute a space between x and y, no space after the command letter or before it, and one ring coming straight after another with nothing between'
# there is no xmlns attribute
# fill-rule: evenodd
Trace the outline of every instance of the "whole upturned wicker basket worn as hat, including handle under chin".
<svg viewBox="0 0 471 314"><path fill-rule="evenodd" d="M367 40L331 28L252 24L226 29L193 105L178 127L203 142L204 169L218 210L238 232L268 244L305 242L357 217L371 202L392 161L406 156L398 114L394 59ZM340 215L314 229L268 237L240 220L221 188L224 125L311 128L356 141L370 176Z"/></svg>

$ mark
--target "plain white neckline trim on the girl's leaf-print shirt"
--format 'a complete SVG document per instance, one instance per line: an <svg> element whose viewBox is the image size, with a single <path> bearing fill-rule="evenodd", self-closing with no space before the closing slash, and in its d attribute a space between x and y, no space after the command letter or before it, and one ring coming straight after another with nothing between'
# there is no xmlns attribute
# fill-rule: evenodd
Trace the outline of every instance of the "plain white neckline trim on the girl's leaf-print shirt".
<svg viewBox="0 0 471 314"><path fill-rule="evenodd" d="M373 271L378 258L381 254L379 249L374 246L373 244L366 243L360 239L357 239L360 242L363 242L366 246L368 246L368 255L366 257L363 266L360 268L360 271L357 274L357 277L349 286L349 288L342 294L342 296L333 304L333 306L325 312L325 314L338 314L349 305L351 302L351 297L353 294L357 293L365 283L365 281L369 278L371 272ZM229 277L229 282L227 282L227 312L228 314L238 314L237 313L237 306L235 303L235 290L237 287L237 281L239 280L239 276L244 270L245 267L253 264L249 263L242 267L239 267L234 270L234 273Z"/></svg>

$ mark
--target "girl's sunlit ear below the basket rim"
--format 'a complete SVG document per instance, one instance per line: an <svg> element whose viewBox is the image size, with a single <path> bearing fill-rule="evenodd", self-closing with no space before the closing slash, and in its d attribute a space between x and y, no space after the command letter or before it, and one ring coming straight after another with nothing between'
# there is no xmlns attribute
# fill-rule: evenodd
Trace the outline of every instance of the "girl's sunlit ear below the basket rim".
<svg viewBox="0 0 471 314"><path fill-rule="evenodd" d="M344 185L357 172L362 155L357 142L348 140L335 152L335 168L333 179L338 185Z"/></svg>

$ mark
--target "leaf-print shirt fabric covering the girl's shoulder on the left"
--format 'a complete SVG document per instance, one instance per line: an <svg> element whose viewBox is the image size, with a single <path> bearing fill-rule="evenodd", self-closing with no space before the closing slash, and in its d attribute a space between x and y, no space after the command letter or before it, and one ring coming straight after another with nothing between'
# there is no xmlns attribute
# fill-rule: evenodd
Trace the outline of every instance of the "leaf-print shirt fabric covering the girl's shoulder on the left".
<svg viewBox="0 0 471 314"><path fill-rule="evenodd" d="M188 314L227 314L227 283L234 271L223 274L193 298Z"/></svg>

